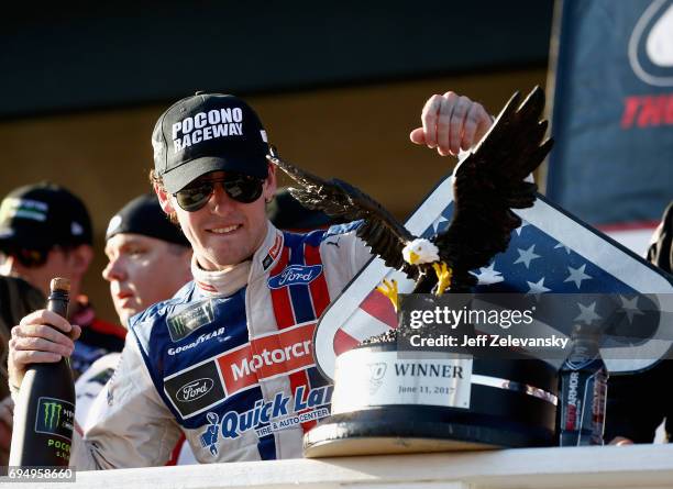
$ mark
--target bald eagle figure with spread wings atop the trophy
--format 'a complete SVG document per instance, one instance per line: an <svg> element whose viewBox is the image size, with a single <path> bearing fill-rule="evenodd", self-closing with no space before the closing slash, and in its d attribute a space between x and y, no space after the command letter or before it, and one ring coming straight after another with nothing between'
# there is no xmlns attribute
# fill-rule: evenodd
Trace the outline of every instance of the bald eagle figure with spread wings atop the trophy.
<svg viewBox="0 0 673 489"><path fill-rule="evenodd" d="M360 189L339 180L323 180L275 153L268 159L300 188L289 192L309 209L349 221L362 220L357 236L386 266L416 281L413 293L441 296L445 289L467 292L477 284L470 270L488 265L509 245L521 225L511 209L529 208L538 187L526 178L552 147L540 121L544 93L536 87L519 105L516 92L492 127L454 171L454 210L450 226L430 240L412 235L386 209ZM384 280L379 290L397 309L397 285Z"/></svg>

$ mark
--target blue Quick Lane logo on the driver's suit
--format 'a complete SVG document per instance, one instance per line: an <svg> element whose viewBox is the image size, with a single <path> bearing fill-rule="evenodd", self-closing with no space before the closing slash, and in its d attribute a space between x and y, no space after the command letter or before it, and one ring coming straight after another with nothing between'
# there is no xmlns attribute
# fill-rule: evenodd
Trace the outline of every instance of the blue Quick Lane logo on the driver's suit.
<svg viewBox="0 0 673 489"><path fill-rule="evenodd" d="M201 446L208 447L214 457L219 452L219 438L235 440L254 430L257 436L301 426L330 414L333 386L308 389L299 386L294 397L277 392L273 401L257 399L255 405L242 413L228 411L220 418L216 412L206 415L209 424L201 433ZM219 425L218 425L219 423Z"/></svg>

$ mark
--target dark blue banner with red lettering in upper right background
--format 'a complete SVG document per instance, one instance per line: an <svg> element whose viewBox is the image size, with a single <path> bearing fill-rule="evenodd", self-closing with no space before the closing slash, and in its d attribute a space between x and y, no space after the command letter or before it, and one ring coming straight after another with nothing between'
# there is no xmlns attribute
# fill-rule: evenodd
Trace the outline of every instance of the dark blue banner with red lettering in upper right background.
<svg viewBox="0 0 673 489"><path fill-rule="evenodd" d="M547 196L643 253L673 198L673 0L563 0Z"/></svg>

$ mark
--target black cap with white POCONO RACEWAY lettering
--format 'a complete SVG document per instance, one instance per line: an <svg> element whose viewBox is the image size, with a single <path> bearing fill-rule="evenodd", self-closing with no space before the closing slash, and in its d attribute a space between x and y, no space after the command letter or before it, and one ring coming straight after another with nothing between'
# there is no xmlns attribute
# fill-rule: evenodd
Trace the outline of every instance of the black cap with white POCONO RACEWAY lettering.
<svg viewBox="0 0 673 489"><path fill-rule="evenodd" d="M169 193L203 174L236 171L266 178L266 131L238 97L197 92L174 103L152 133L154 169Z"/></svg>

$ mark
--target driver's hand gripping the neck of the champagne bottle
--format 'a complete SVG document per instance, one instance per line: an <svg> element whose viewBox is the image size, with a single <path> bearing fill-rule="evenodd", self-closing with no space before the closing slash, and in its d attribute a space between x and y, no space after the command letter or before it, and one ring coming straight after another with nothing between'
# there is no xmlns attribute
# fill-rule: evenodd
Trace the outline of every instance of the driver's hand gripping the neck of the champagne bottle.
<svg viewBox="0 0 673 489"><path fill-rule="evenodd" d="M51 325L49 325L51 324ZM53 327L52 327L53 326ZM21 387L29 364L58 362L69 357L81 329L55 312L41 309L32 312L12 329L9 342L8 371L10 386Z"/></svg>

